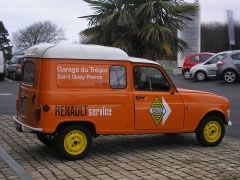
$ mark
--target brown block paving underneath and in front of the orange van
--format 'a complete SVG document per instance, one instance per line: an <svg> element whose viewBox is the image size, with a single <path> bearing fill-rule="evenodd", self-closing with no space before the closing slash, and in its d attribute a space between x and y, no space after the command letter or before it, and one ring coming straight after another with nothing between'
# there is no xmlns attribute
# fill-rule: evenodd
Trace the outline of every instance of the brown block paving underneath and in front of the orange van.
<svg viewBox="0 0 240 180"><path fill-rule="evenodd" d="M240 140L225 137L213 148L195 135L104 136L84 160L66 161L33 134L18 133L0 115L0 146L33 179L240 179ZM0 180L19 179L0 159Z"/></svg>

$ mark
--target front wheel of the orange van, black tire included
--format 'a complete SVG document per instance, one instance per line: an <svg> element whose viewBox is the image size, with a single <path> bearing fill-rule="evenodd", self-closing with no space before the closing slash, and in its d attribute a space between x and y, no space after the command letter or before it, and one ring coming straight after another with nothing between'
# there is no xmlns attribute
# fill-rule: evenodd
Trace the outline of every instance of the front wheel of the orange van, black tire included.
<svg viewBox="0 0 240 180"><path fill-rule="evenodd" d="M212 147L218 145L225 134L223 119L216 115L205 117L199 124L196 137L202 146Z"/></svg>

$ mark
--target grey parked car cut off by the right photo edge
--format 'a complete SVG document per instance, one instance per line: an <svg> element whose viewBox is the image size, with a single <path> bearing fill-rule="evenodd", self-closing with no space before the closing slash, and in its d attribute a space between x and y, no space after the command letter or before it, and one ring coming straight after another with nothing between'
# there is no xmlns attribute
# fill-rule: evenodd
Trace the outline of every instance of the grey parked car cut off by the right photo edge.
<svg viewBox="0 0 240 180"><path fill-rule="evenodd" d="M217 63L217 76L227 83L233 83L240 78L240 50L232 51Z"/></svg>

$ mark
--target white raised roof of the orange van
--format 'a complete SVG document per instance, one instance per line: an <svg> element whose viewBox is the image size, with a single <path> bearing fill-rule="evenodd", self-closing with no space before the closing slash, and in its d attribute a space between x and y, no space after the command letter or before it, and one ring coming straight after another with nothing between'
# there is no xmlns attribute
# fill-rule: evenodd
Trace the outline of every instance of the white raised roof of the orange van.
<svg viewBox="0 0 240 180"><path fill-rule="evenodd" d="M119 48L83 44L39 44L29 48L25 57L86 59L86 60L123 60L137 63L158 64L142 58L129 57Z"/></svg>

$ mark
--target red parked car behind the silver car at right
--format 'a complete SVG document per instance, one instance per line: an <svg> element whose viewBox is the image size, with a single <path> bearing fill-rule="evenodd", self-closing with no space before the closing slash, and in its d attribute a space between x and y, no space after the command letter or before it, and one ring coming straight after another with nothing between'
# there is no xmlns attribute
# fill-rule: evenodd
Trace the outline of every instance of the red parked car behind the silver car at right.
<svg viewBox="0 0 240 180"><path fill-rule="evenodd" d="M190 69L195 66L196 64L205 62L210 57L212 57L214 53L209 52L202 52L202 53L195 53L186 55L182 67L182 74L185 79L189 79Z"/></svg>

